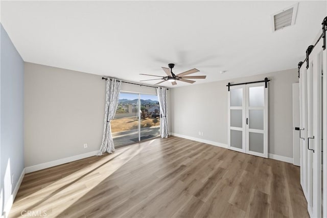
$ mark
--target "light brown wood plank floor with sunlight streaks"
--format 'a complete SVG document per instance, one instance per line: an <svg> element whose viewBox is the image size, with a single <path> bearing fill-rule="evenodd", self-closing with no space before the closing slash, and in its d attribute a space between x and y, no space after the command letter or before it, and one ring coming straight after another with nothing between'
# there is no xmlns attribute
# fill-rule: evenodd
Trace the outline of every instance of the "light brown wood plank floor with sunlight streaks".
<svg viewBox="0 0 327 218"><path fill-rule="evenodd" d="M299 177L290 163L158 138L26 174L9 217L309 217Z"/></svg>

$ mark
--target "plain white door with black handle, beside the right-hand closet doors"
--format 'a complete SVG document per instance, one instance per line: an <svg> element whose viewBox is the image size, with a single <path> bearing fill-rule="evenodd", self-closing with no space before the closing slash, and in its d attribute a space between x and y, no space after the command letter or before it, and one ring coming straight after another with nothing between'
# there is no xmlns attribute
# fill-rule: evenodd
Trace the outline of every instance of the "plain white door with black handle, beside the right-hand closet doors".
<svg viewBox="0 0 327 218"><path fill-rule="evenodd" d="M293 83L293 164L300 165L300 138L299 131L295 128L299 127L300 114L299 114L299 84Z"/></svg>

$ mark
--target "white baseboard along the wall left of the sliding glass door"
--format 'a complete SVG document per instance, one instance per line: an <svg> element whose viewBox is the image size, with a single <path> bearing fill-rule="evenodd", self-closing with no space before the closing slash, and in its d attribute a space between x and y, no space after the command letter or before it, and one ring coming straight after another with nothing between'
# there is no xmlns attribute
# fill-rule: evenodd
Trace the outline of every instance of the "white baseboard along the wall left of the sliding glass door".
<svg viewBox="0 0 327 218"><path fill-rule="evenodd" d="M62 158L62 159L58 159L58 160L40 163L40 164L33 165L33 166L27 166L27 167L25 167L25 173L32 173L32 172L39 171L41 169L49 168L52 166L57 166L60 164L72 162L75 160L80 160L80 159L91 157L91 156L96 156L97 154L98 154L98 151L93 151L93 152L75 155L72 157L66 157L66 158Z"/></svg>

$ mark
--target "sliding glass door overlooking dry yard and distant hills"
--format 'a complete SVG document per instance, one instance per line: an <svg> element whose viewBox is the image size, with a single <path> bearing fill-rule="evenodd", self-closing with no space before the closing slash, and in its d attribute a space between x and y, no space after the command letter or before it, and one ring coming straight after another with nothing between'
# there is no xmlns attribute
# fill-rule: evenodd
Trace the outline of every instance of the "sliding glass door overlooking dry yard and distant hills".
<svg viewBox="0 0 327 218"><path fill-rule="evenodd" d="M111 121L115 148L160 135L157 95L121 92Z"/></svg>

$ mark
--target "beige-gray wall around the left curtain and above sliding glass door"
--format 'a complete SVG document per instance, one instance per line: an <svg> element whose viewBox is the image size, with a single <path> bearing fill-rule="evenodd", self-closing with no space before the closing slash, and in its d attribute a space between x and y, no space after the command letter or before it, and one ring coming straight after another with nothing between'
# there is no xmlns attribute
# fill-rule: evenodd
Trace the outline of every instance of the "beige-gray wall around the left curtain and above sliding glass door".
<svg viewBox="0 0 327 218"><path fill-rule="evenodd" d="M100 149L105 103L101 76L25 63L24 90L25 167ZM154 88L126 83L121 90L156 94Z"/></svg>

